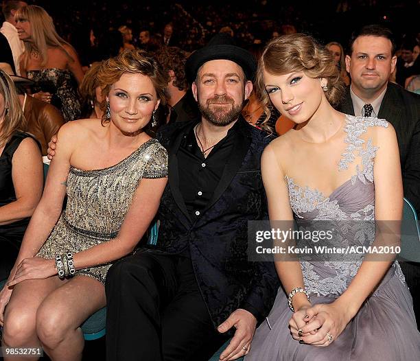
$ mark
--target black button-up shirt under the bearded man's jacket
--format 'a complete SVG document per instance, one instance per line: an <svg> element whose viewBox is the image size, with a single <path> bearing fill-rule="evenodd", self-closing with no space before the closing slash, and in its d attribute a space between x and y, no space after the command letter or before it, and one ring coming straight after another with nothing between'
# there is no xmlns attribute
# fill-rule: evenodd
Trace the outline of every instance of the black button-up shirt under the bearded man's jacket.
<svg viewBox="0 0 420 361"><path fill-rule="evenodd" d="M207 158L202 155L194 128L180 143L178 150L179 188L191 220L201 216L222 177L237 139L237 123L229 129Z"/></svg>

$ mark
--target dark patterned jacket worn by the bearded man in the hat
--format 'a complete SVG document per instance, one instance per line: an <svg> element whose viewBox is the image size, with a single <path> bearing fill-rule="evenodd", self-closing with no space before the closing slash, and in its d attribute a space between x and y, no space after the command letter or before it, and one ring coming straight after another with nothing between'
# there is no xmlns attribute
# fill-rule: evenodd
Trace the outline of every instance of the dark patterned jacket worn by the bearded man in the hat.
<svg viewBox="0 0 420 361"><path fill-rule="evenodd" d="M240 117L240 137L224 167L213 198L198 220L191 220L178 187L176 153L196 122L175 123L161 130L158 139L169 154L169 181L159 207L159 239L167 253L182 253L189 246L198 286L215 327L243 308L258 323L275 301L279 279L272 262L247 259L248 220L268 218L260 159L272 140ZM188 248L187 248L188 249Z"/></svg>

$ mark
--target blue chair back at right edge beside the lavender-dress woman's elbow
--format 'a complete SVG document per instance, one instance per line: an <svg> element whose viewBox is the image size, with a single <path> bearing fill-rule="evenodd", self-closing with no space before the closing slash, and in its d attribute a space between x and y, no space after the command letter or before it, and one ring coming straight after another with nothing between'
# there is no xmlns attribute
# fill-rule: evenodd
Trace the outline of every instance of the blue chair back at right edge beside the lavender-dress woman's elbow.
<svg viewBox="0 0 420 361"><path fill-rule="evenodd" d="M401 261L420 262L420 227L415 207L404 198L401 222Z"/></svg>

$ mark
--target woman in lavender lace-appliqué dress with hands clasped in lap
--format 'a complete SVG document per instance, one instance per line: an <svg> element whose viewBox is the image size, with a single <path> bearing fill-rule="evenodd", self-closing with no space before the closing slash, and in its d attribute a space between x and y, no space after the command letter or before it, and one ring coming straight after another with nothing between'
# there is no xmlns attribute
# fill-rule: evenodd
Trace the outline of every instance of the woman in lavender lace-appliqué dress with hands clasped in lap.
<svg viewBox="0 0 420 361"><path fill-rule="evenodd" d="M340 74L329 51L305 34L267 45L257 86L264 104L304 125L261 157L271 226L293 229L296 222L311 239L297 233L281 240L286 251L275 266L282 288L246 361L417 359L412 298L395 261L403 189L393 126L334 109ZM320 231L329 237L319 238ZM388 253L340 253L379 245ZM296 247L309 251L297 255Z"/></svg>

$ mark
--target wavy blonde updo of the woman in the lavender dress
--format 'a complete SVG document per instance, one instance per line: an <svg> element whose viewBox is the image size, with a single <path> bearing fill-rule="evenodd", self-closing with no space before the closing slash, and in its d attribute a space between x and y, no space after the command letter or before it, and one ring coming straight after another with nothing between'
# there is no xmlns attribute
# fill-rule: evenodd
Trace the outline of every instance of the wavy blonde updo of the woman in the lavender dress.
<svg viewBox="0 0 420 361"><path fill-rule="evenodd" d="M264 85L264 70L275 75L303 71L310 78L327 79L325 91L331 106L338 106L345 93L345 84L330 52L307 34L289 34L273 38L264 49L258 62L256 87L259 100L264 106L266 119L270 119L270 97Z"/></svg>

